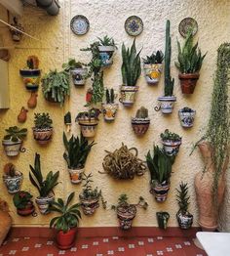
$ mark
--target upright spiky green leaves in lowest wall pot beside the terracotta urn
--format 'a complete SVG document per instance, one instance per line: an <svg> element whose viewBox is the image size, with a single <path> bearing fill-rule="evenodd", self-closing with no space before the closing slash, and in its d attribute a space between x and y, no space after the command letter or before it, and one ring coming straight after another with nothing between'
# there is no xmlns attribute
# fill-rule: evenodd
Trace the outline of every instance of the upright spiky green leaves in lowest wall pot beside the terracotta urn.
<svg viewBox="0 0 230 256"><path fill-rule="evenodd" d="M189 205L189 198L188 196L188 184L181 182L179 184L179 189L176 189L176 201L178 202L179 212L182 215L186 215L188 213L188 205Z"/></svg>

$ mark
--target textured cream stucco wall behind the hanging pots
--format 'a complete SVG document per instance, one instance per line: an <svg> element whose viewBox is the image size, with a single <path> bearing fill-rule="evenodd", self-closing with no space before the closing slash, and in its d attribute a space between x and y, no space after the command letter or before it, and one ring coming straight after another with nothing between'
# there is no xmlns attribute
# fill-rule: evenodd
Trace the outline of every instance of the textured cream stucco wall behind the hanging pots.
<svg viewBox="0 0 230 256"><path fill-rule="evenodd" d="M106 87L114 87L117 91L122 83L120 71L121 45L123 42L127 46L131 46L133 38L124 30L124 22L131 15L139 16L144 22L144 31L136 38L137 48L143 47L141 57L149 55L153 50L164 50L165 45L165 25L167 19L172 22L172 46L173 60L172 72L175 77L174 94L177 102L170 116L163 116L160 112L156 112L154 107L157 105L157 97L163 94L163 79L156 87L150 87L146 84L143 74L138 80L140 87L137 93L137 99L134 107L128 109L120 105L120 109L115 123L107 124L100 117L96 133L96 146L93 148L86 165L87 173L92 172L95 178L95 184L102 189L105 199L109 205L116 203L120 193L126 192L131 201L135 202L141 194L149 203L146 212L138 209L138 214L134 219L134 226L157 226L155 214L156 211L169 211L171 214L170 226L177 226L175 213L177 205L175 201L175 188L180 181L189 184L191 194L190 212L194 214L194 226L197 224L197 205L195 200L195 192L193 188L193 180L195 174L202 170L203 162L198 151L189 156L192 144L196 142L204 130L208 118L211 100L212 75L215 68L216 49L220 43L229 39L229 3L225 1L198 1L198 0L65 0L61 2L60 14L58 17L48 17L44 13L37 12L34 9L26 8L22 23L27 32L36 35L42 40L37 42L28 38L24 38L19 44L20 47L28 49L15 50L13 58L10 62L10 88L12 107L7 112L0 112L1 138L4 129L10 125L17 124L17 115L21 106L26 106L29 93L25 91L19 77L19 68L24 65L28 55L37 55L41 61L43 74L50 68L60 68L68 57L75 57L81 62L89 62L90 53L81 52L80 49L88 46L96 40L97 36L108 34L113 36L118 45L118 51L114 58L114 64L110 69L104 72L104 85ZM90 31L84 36L76 36L69 29L69 21L75 15L85 15L90 23ZM173 63L176 60L176 37L181 41L178 33L178 23L185 17L193 17L199 24L199 31L196 39L199 38L199 44L203 52L208 51L207 58L201 71L201 77L197 84L195 93L191 96L181 94L179 82L177 79L177 70ZM42 49L48 47L49 49ZM56 49L58 47L58 49ZM32 49L38 48L38 49ZM75 191L78 194L81 186L72 186L69 182L66 165L62 159L62 131L63 114L70 109L73 119L77 112L84 109L85 93L91 85L90 80L84 89L72 87L71 97L64 108L52 106L44 101L41 89L39 90L38 107L35 110L29 110L28 120L22 126L28 128L29 133L24 147L27 149L25 153L20 153L13 162L19 170L24 174L22 185L23 190L33 192L34 196L37 192L32 188L28 181L28 164L33 162L34 152L41 153L42 167L46 171L59 171L61 184L56 189L57 196L66 196L69 192ZM147 134L143 138L136 138L131 127L131 117L134 116L136 109L140 106L148 107L151 118L151 126ZM180 127L177 117L177 111L181 107L192 107L197 110L195 125L190 130L184 130ZM47 148L36 145L32 138L31 127L33 126L33 112L49 111L55 127L55 135L52 144ZM21 125L19 125L21 126ZM98 174L102 170L102 159L105 155L104 149L113 150L119 148L124 142L128 147L136 147L139 156L144 158L148 149L152 149L153 143L160 144L160 133L166 128L176 132L182 136L182 146L173 165L172 187L169 198L163 204L156 203L153 195L149 193L149 175L146 173L143 177L136 177L133 181L115 181L112 178ZM78 125L73 125L73 132L79 134ZM0 168L11 160L5 156L1 148ZM0 181L1 193L8 201L12 200ZM77 199L77 196L76 198ZM12 215L15 225L47 225L50 221L49 216L21 218L16 215L16 210L11 203ZM111 210L97 209L95 216L83 216L81 222L82 227L96 226L117 226L116 215Z"/></svg>

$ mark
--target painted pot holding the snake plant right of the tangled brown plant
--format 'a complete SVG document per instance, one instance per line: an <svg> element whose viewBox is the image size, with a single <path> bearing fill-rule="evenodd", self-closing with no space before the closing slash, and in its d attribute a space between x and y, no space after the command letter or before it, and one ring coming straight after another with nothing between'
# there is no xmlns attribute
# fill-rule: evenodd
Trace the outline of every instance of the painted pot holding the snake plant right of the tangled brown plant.
<svg viewBox="0 0 230 256"><path fill-rule="evenodd" d="M164 202L167 199L168 192L170 191L171 184L167 182L163 182L159 184L157 182L151 183L150 192L154 194L156 201Z"/></svg>

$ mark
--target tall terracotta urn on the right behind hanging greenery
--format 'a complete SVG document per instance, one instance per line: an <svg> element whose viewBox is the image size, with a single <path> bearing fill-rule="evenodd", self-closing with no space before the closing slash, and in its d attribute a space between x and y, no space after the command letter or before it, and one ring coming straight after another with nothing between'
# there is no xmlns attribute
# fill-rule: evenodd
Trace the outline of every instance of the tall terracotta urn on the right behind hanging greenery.
<svg viewBox="0 0 230 256"><path fill-rule="evenodd" d="M205 172L200 171L195 176L195 191L199 208L199 225L202 227L203 231L214 231L217 228L219 206L223 200L225 189L224 174L229 158L227 157L225 159L224 167L218 182L217 202L214 202L212 186L215 170L211 159L211 144L202 142L198 147L204 157L207 167Z"/></svg>

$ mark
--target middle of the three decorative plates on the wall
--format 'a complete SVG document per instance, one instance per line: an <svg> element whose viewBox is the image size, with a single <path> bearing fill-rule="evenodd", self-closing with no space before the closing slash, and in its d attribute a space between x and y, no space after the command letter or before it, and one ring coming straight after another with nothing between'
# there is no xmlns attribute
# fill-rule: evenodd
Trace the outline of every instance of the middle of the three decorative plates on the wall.
<svg viewBox="0 0 230 256"><path fill-rule="evenodd" d="M143 31L143 21L137 16L131 16L125 22L125 29L129 35L139 35Z"/></svg>

